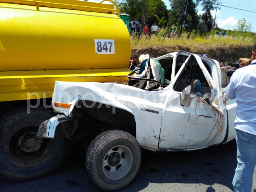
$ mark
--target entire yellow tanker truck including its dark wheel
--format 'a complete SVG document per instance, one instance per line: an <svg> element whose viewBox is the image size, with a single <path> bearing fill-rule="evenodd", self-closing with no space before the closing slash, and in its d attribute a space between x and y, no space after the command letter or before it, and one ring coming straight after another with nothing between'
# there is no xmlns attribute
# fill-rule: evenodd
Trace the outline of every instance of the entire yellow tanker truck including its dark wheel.
<svg viewBox="0 0 256 192"><path fill-rule="evenodd" d="M45 176L67 156L67 130L72 130L58 129L53 140L36 138L38 126L54 116L50 102L56 80L127 84L130 36L119 16L113 4L0 0L3 178Z"/></svg>

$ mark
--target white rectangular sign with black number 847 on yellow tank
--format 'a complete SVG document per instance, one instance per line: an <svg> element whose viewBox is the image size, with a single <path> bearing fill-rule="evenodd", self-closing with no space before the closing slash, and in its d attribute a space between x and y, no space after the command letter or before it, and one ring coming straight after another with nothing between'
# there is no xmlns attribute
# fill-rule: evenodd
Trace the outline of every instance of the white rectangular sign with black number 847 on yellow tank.
<svg viewBox="0 0 256 192"><path fill-rule="evenodd" d="M113 39L94 39L95 52L98 54L115 54Z"/></svg>

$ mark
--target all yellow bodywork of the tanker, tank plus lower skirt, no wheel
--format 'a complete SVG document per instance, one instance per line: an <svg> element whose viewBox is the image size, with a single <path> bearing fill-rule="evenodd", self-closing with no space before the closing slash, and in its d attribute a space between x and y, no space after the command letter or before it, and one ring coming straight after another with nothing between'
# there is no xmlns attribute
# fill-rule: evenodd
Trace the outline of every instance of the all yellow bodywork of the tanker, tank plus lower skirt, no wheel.
<svg viewBox="0 0 256 192"><path fill-rule="evenodd" d="M56 80L127 84L130 36L119 16L113 4L0 0L0 107L51 98Z"/></svg>

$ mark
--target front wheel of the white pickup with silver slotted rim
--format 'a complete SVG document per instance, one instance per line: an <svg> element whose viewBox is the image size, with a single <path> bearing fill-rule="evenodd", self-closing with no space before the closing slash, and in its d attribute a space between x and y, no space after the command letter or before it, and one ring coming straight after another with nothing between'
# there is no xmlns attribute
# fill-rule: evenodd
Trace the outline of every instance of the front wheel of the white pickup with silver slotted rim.
<svg viewBox="0 0 256 192"><path fill-rule="evenodd" d="M117 190L134 179L140 161L140 145L134 136L122 130L109 130L91 142L86 170L98 188Z"/></svg>

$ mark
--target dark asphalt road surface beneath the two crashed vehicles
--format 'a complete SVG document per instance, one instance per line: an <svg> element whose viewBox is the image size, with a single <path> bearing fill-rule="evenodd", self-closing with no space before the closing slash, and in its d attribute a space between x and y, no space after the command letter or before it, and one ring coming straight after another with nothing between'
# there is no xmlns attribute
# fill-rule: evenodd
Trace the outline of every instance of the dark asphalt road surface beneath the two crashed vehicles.
<svg viewBox="0 0 256 192"><path fill-rule="evenodd" d="M0 180L0 192L99 192L83 166L84 154L73 148L52 175L29 182ZM232 192L236 142L189 152L142 152L136 178L122 192ZM256 192L256 171L253 192Z"/></svg>

